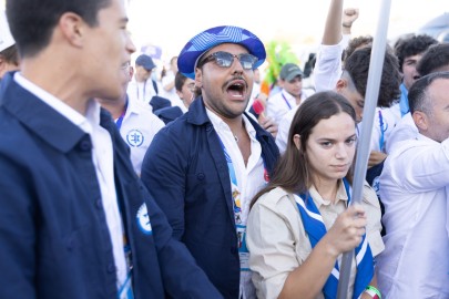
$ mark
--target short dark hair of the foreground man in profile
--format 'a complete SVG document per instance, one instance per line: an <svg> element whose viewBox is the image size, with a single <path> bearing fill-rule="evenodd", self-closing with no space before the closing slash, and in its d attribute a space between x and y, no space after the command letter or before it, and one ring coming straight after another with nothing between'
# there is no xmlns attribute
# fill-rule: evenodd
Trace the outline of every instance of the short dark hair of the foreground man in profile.
<svg viewBox="0 0 449 299"><path fill-rule="evenodd" d="M63 13L76 13L95 27L98 12L110 4L111 0L12 0L7 1L7 16L19 54L33 56L49 44Z"/></svg>

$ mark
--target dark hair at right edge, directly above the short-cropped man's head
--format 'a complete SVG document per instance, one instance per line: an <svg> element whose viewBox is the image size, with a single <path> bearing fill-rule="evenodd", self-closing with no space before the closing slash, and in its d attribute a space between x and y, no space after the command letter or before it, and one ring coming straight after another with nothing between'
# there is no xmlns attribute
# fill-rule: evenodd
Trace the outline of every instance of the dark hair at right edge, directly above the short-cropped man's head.
<svg viewBox="0 0 449 299"><path fill-rule="evenodd" d="M416 69L427 75L445 66L449 66L449 43L437 43L427 49Z"/></svg>

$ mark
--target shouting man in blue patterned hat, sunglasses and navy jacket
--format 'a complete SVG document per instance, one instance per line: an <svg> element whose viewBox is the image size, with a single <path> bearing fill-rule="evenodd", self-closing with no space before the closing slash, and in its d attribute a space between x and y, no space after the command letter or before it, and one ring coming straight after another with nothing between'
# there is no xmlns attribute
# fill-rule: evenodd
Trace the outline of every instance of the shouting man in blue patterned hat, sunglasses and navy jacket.
<svg viewBox="0 0 449 299"><path fill-rule="evenodd" d="M262 41L243 28L215 27L192 38L177 66L201 95L160 131L142 167L174 237L225 298L255 298L246 218L279 155L272 135L244 112L265 56Z"/></svg>

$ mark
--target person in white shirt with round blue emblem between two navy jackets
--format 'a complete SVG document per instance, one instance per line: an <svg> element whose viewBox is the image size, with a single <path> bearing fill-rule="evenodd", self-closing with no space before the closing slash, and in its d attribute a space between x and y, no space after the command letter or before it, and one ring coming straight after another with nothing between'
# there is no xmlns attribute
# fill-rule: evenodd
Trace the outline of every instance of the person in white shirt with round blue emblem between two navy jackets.
<svg viewBox="0 0 449 299"><path fill-rule="evenodd" d="M156 115L153 114L149 105L132 100L126 94L127 84L133 75L133 69L130 63L122 68L123 72L123 93L114 101L110 99L96 99L102 107L108 110L120 131L120 135L126 142L131 150L131 162L135 173L140 176L142 161L146 150L153 141L154 135L164 127Z"/></svg>

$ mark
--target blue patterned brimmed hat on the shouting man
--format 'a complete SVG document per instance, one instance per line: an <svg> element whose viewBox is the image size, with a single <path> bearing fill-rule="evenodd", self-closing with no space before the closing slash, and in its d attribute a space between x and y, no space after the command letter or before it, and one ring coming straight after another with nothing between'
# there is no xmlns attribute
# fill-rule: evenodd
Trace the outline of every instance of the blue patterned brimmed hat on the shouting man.
<svg viewBox="0 0 449 299"><path fill-rule="evenodd" d="M184 45L177 58L177 69L185 76L195 79L195 66L198 59L211 48L222 43L237 43L245 47L249 54L258 59L254 69L261 66L265 61L265 47L256 35L239 27L220 25L196 34Z"/></svg>

